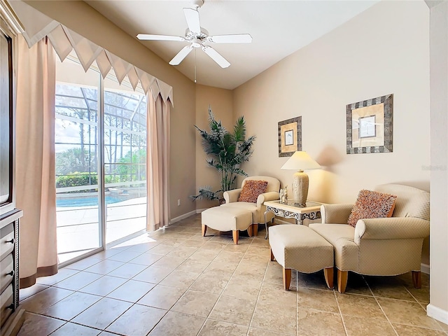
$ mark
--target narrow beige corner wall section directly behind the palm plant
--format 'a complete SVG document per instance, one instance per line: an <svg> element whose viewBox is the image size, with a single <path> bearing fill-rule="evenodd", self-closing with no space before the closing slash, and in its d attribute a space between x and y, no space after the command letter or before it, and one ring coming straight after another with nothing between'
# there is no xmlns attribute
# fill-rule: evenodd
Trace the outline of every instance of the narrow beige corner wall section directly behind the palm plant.
<svg viewBox="0 0 448 336"><path fill-rule="evenodd" d="M195 125L201 130L209 131L209 106L214 113L216 120L221 120L224 127L230 132L233 130L235 120L232 110L232 91L196 85L196 121ZM209 167L206 162L207 155L204 153L201 144L201 137L193 125L188 127L195 130L196 134L196 191L200 186L212 186L213 190L221 188L221 176L216 169ZM218 205L218 201L195 201L196 209L204 209Z"/></svg>

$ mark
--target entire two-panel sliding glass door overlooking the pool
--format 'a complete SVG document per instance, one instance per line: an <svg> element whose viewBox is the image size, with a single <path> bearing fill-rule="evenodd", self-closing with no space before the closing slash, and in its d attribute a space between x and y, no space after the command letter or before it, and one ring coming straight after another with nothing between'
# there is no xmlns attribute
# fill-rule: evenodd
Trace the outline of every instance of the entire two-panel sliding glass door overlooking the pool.
<svg viewBox="0 0 448 336"><path fill-rule="evenodd" d="M57 64L55 97L59 263L146 229L146 95L113 73Z"/></svg>

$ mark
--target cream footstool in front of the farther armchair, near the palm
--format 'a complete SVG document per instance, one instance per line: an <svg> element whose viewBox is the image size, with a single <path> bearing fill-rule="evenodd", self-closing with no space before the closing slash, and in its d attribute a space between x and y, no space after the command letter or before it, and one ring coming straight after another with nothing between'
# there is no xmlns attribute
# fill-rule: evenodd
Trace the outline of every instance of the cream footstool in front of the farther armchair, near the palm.
<svg viewBox="0 0 448 336"><path fill-rule="evenodd" d="M202 211L201 216L202 236L205 236L207 228L232 231L233 244L238 244L239 231L247 230L249 237L252 236L252 213L246 209L213 207Z"/></svg>

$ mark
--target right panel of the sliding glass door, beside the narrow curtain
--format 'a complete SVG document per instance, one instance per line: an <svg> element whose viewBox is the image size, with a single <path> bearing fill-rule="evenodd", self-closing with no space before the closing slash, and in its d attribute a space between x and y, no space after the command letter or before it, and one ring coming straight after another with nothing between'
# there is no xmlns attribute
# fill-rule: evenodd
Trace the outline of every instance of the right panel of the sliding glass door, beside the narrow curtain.
<svg viewBox="0 0 448 336"><path fill-rule="evenodd" d="M146 228L146 95L110 75L104 80L106 244Z"/></svg>

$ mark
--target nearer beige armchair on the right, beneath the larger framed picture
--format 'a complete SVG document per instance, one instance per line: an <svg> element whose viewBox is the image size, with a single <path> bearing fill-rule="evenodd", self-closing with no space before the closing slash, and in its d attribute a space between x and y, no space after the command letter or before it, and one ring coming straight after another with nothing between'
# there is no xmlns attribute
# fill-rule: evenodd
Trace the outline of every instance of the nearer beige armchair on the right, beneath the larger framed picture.
<svg viewBox="0 0 448 336"><path fill-rule="evenodd" d="M375 188L396 195L391 218L360 219L346 224L353 204L324 204L322 223L309 228L335 250L337 289L344 293L348 271L365 275L398 275L412 271L414 287L421 288L421 247L429 236L429 193L398 184Z"/></svg>

